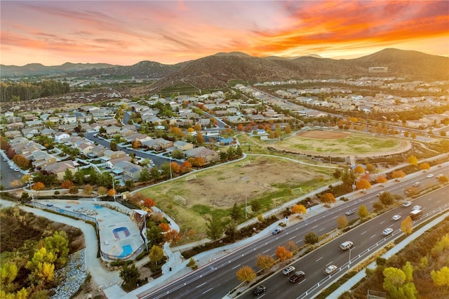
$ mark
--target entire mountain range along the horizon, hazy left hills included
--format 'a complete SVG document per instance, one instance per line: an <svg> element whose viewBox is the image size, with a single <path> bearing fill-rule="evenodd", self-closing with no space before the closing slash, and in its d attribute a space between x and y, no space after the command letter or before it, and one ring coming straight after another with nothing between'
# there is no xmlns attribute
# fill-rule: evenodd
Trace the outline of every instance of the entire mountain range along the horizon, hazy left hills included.
<svg viewBox="0 0 449 299"><path fill-rule="evenodd" d="M348 60L321 58L319 55L257 58L246 53L231 52L217 53L175 65L142 61L130 66L67 62L51 67L37 63L22 67L13 65L0 65L0 67L3 78L40 74L156 80L156 83L148 86L147 91L180 84L190 84L196 88L223 88L228 86L229 80L253 83L288 79L348 79L379 76L422 81L449 80L449 58L394 48ZM388 72L371 73L368 72L369 67L387 67Z"/></svg>

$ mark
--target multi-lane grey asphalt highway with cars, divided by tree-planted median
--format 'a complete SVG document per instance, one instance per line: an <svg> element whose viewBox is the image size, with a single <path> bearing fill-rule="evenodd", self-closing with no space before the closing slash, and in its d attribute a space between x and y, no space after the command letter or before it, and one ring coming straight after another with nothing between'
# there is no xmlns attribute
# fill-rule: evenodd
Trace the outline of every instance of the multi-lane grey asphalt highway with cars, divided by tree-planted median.
<svg viewBox="0 0 449 299"><path fill-rule="evenodd" d="M441 168L435 168L434 173L448 174L449 166ZM403 190L406 187L410 187L413 182L420 181L421 187L428 185L435 185L436 178L427 178L429 173L420 173L413 175L413 179L403 180L401 182L394 182L389 187L382 188L382 191L388 191L393 194L403 194ZM419 204L423 207L424 215L429 211L448 204L448 189L449 187L442 188L436 192L415 199L413 205ZM379 189L380 191L380 189ZM257 270L256 256L259 253L273 255L278 246L283 246L287 241L293 240L297 246L304 244L304 234L307 232L315 232L316 234L325 234L335 229L337 226L337 218L348 209L358 209L361 205L365 204L368 210L372 209L372 204L377 200L376 192L370 192L358 199L348 201L347 203L330 208L325 213L314 215L307 220L298 222L295 225L286 227L281 234L273 236L267 234L262 236L257 241L254 241L248 246L243 246L225 257L215 260L208 265L191 272L180 279L172 281L170 284L166 284L157 290L149 290L142 292L144 298L223 298L229 291L239 285L239 281L236 279L236 271L243 265L249 265L253 269ZM444 200L446 199L446 200ZM309 255L293 263L298 269L306 273L306 278L300 281L299 284L291 284L288 281L288 277L284 277L280 272L274 274L264 284L267 286L267 296L272 298L297 298L301 295L301 298L307 298L309 295L304 295L308 290L313 291L316 284L322 279L326 279L326 275L323 274L323 270L327 265L337 265L338 267L347 267L349 261L349 252L351 253L351 265L354 265L358 260L361 260L365 255L361 254L370 248L370 251L376 249L375 244L382 246L388 241L388 238L393 238L398 234L398 229L401 221L392 221L391 216L395 214L402 215L403 218L408 215L410 209L398 207L392 211L384 213L375 220L370 220L365 225L361 225L354 230L351 230L325 246L312 251ZM349 220L357 218L356 213L348 217ZM382 230L387 227L394 229L394 234L391 234L386 240L381 235ZM350 240L354 242L354 248L351 251L340 251L338 246L342 241ZM359 256L360 255L360 256ZM366 254L368 255L368 253ZM342 271L337 272L338 275L342 274ZM330 281L330 279L329 279ZM315 288L315 291L319 291L326 287L327 284L321 284L321 286ZM247 296L253 296L252 293L243 293L241 296L246 298ZM310 294L310 293L308 293ZM268 297L267 297L268 298Z"/></svg>

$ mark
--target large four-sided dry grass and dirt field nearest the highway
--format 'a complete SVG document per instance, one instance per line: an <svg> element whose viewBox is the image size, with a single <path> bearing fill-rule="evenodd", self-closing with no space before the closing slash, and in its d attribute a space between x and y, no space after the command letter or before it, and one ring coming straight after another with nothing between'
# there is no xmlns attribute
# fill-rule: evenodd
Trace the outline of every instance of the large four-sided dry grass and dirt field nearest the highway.
<svg viewBox="0 0 449 299"><path fill-rule="evenodd" d="M173 215L181 226L181 233L195 230L204 237L204 216L208 213L226 217L234 203L244 211L246 198L248 203L258 199L262 206L273 207L299 196L300 192L295 188L302 187L303 192L308 192L325 185L328 179L328 168L307 166L287 159L253 157L249 165L242 164L239 161L211 168L196 173L194 180L173 180L149 187L142 193L154 199L156 206L168 215ZM176 204L173 201L175 195L186 199L187 205Z"/></svg>

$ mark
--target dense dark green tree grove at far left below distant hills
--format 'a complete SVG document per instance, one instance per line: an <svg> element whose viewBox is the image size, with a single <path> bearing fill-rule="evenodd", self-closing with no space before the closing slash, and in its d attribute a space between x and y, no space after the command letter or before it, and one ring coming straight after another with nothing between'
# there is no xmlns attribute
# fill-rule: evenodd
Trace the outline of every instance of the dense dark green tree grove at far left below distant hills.
<svg viewBox="0 0 449 299"><path fill-rule="evenodd" d="M40 82L0 82L0 102L32 100L35 98L69 93L68 83L54 80Z"/></svg>

